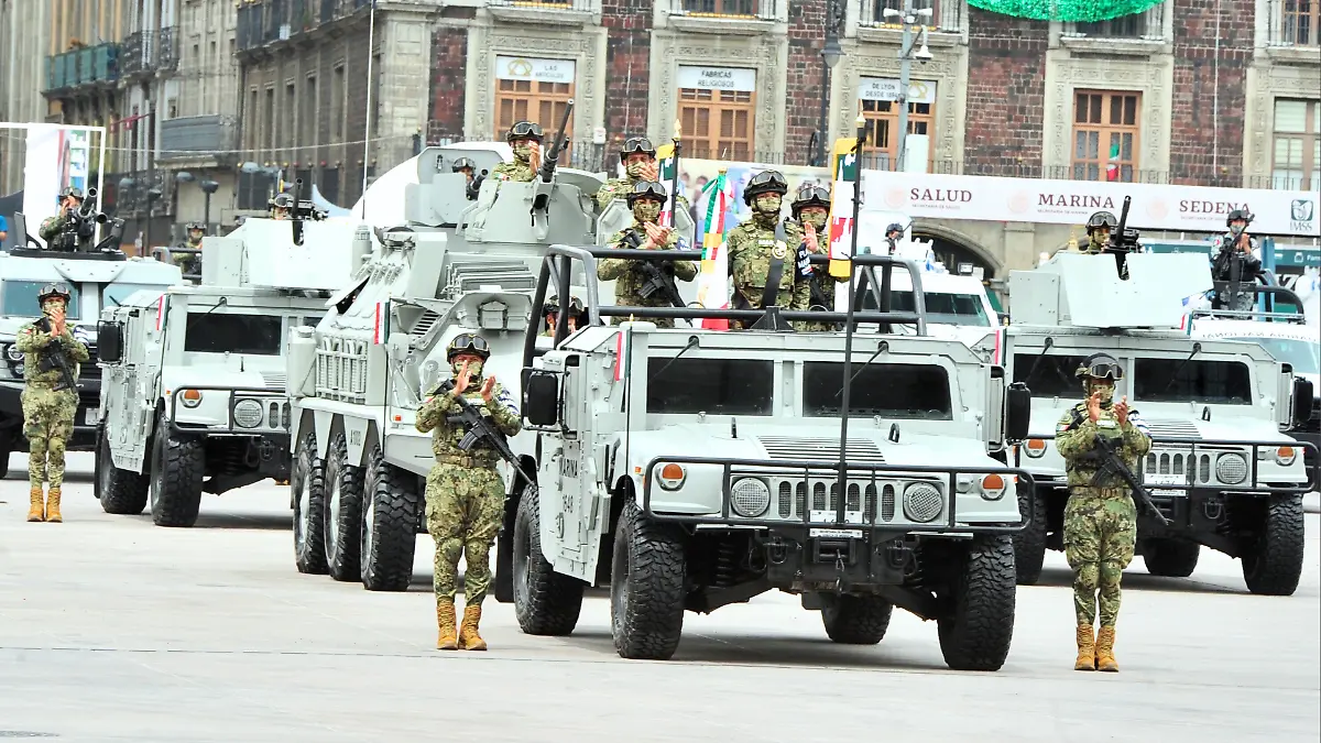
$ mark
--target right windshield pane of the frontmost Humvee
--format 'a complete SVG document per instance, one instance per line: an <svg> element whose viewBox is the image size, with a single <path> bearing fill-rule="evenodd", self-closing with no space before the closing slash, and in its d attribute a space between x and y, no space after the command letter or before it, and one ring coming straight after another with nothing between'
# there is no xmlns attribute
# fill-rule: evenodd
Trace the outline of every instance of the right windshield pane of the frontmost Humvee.
<svg viewBox="0 0 1321 743"><path fill-rule="evenodd" d="M853 365L848 395L849 415L881 418L950 418L950 377L933 364ZM803 364L803 415L836 416L843 410L839 395L844 365L835 361Z"/></svg>

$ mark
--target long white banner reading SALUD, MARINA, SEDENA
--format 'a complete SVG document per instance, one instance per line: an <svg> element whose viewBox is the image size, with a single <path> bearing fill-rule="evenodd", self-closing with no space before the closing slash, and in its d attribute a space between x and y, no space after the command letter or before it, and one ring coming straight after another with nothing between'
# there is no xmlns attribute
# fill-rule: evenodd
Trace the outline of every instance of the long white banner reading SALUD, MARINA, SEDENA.
<svg viewBox="0 0 1321 743"><path fill-rule="evenodd" d="M1317 192L1207 188L1099 181L1050 181L863 171L867 212L911 218L1083 225L1096 212L1115 218L1133 202L1128 226L1145 230L1222 233L1235 209L1254 215L1260 235L1321 235Z"/></svg>

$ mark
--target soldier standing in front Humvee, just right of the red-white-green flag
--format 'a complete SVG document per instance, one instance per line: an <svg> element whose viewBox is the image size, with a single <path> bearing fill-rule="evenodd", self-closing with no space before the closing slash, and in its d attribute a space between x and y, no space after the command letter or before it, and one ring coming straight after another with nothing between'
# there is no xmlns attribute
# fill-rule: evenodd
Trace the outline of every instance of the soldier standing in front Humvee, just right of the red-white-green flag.
<svg viewBox="0 0 1321 743"><path fill-rule="evenodd" d="M752 218L725 237L736 309L761 309L766 287L773 282L777 305L785 309L811 305L812 272L803 237L797 225L779 221L786 193L789 182L778 171L762 171L744 188L744 204L752 206Z"/></svg>

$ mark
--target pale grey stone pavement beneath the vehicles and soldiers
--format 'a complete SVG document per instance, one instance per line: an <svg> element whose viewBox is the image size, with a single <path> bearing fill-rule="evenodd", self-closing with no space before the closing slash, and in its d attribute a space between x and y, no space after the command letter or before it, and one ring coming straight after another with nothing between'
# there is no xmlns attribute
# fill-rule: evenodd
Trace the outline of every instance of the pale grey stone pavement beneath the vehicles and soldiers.
<svg viewBox="0 0 1321 743"><path fill-rule="evenodd" d="M486 653L433 650L431 541L404 594L300 575L287 489L206 496L194 529L115 517L73 455L65 524L25 524L22 455L0 483L0 739L62 742L923 743L1321 738L1321 561L1289 598L1248 595L1202 551L1192 579L1125 574L1119 674L1073 668L1067 568L1018 590L999 673L945 668L934 624L896 612L877 646L836 646L766 595L688 615L668 662L620 658L609 603L565 639L486 603Z"/></svg>

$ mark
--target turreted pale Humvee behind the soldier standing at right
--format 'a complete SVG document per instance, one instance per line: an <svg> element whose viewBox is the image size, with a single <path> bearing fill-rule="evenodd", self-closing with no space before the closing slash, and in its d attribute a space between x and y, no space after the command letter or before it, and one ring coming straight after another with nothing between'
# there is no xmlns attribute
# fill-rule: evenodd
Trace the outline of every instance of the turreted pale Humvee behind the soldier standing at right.
<svg viewBox="0 0 1321 743"><path fill-rule="evenodd" d="M1310 382L1258 344L1192 338L1185 297L1211 288L1206 258L1055 254L1012 271L1013 323L975 345L1032 390L1032 434L1015 461L1032 472L1036 517L1016 537L1020 583L1034 583L1046 549L1063 549L1065 463L1057 423L1082 402L1079 361L1106 352L1124 368L1116 399L1152 436L1139 473L1164 525L1139 506L1137 553L1153 575L1188 576L1202 546L1239 558L1254 594L1288 595L1303 567L1304 448L1284 434L1312 412Z"/></svg>

